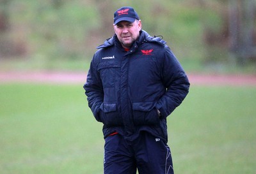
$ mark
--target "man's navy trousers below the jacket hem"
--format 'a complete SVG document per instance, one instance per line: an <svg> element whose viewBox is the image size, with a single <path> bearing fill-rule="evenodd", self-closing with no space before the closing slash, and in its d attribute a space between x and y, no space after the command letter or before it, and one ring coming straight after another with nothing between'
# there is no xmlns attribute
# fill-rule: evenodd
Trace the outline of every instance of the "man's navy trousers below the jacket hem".
<svg viewBox="0 0 256 174"><path fill-rule="evenodd" d="M171 151L160 138L147 132L134 140L108 136L104 146L104 174L173 174Z"/></svg>

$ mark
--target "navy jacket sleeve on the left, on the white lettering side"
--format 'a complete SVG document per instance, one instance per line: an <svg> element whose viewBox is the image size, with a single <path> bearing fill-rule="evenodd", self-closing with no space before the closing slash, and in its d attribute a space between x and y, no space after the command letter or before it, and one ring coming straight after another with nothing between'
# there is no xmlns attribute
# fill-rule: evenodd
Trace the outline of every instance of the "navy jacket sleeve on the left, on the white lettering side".
<svg viewBox="0 0 256 174"><path fill-rule="evenodd" d="M103 103L104 92L102 88L102 82L100 80L100 76L95 64L95 55L93 56L86 83L83 87L87 96L88 105L91 108L95 119L101 122L99 118L99 110L100 105Z"/></svg>

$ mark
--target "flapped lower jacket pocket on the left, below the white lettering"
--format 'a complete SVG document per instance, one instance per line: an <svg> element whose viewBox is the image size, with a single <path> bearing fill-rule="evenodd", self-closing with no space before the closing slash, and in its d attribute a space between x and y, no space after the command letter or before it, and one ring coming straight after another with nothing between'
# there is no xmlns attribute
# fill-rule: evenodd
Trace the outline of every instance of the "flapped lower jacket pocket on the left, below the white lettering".
<svg viewBox="0 0 256 174"><path fill-rule="evenodd" d="M106 127L123 125L116 103L102 103L100 105L100 120Z"/></svg>

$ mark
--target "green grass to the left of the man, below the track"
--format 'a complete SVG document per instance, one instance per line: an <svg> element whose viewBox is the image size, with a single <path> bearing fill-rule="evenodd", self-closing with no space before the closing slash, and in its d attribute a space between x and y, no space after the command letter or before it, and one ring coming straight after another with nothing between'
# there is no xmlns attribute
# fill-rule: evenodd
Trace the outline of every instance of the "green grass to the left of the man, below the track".
<svg viewBox="0 0 256 174"><path fill-rule="evenodd" d="M1 173L102 173L102 128L83 84L0 89Z"/></svg>

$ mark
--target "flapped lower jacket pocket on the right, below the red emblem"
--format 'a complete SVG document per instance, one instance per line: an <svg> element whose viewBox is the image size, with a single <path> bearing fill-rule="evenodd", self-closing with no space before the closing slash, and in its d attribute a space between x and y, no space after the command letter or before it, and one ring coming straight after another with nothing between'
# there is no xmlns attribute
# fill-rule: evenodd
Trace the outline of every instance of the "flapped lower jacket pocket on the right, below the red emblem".
<svg viewBox="0 0 256 174"><path fill-rule="evenodd" d="M136 126L159 124L154 102L132 103L133 120Z"/></svg>

